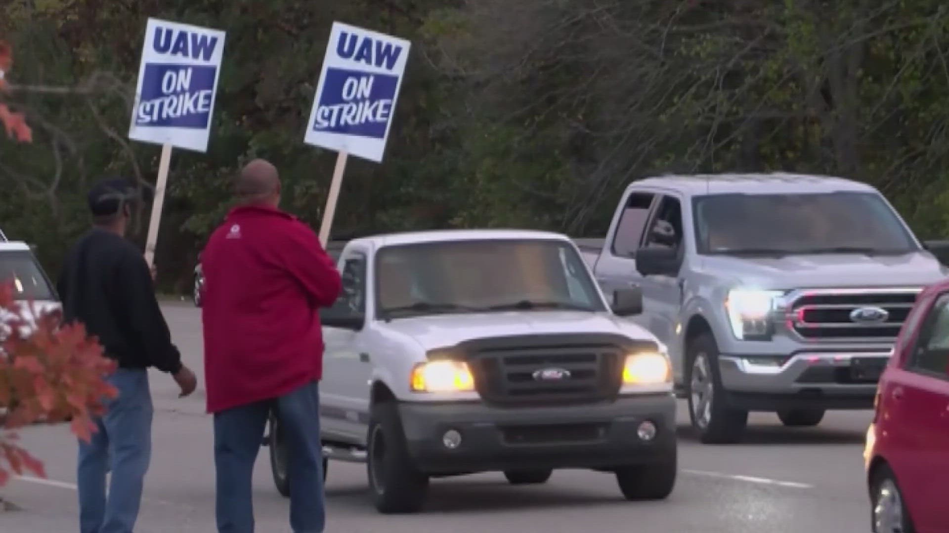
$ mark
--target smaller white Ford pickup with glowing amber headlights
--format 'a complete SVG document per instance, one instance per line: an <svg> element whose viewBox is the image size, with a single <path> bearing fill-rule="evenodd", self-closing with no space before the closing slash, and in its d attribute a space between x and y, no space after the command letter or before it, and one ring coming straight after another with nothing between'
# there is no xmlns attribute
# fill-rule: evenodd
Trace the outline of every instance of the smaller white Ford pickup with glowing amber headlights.
<svg viewBox="0 0 949 533"><path fill-rule="evenodd" d="M350 241L344 294L321 313L320 428L328 458L366 462L376 507L416 512L429 480L553 469L615 473L630 500L663 499L677 474L664 347L623 317L556 233L446 230ZM279 421L271 467L287 495Z"/></svg>

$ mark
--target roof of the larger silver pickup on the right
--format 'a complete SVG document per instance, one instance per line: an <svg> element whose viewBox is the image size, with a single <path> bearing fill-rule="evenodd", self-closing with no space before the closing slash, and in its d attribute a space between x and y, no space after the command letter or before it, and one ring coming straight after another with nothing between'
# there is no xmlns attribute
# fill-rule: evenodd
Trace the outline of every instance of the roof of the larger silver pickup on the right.
<svg viewBox="0 0 949 533"><path fill-rule="evenodd" d="M830 175L791 173L661 175L634 181L630 188L654 187L687 195L725 193L833 193L875 192L876 189L852 179Z"/></svg>

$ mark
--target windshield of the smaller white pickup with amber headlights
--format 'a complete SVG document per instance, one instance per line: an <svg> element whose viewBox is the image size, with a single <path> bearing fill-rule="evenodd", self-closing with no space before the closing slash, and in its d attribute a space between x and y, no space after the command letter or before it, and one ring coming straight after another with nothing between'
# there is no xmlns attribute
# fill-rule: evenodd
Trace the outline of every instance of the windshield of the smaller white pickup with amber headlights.
<svg viewBox="0 0 949 533"><path fill-rule="evenodd" d="M381 248L379 316L605 311L576 250L558 241L447 241Z"/></svg>

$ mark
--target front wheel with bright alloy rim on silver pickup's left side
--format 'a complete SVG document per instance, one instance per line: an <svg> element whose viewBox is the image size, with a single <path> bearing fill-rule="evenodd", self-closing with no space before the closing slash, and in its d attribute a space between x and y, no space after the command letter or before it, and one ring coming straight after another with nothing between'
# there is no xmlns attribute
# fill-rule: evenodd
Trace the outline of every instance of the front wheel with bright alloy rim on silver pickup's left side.
<svg viewBox="0 0 949 533"><path fill-rule="evenodd" d="M748 412L729 409L723 401L721 377L718 375L718 346L705 334L688 344L686 360L686 393L692 427L704 444L734 444L741 440L748 426Z"/></svg>

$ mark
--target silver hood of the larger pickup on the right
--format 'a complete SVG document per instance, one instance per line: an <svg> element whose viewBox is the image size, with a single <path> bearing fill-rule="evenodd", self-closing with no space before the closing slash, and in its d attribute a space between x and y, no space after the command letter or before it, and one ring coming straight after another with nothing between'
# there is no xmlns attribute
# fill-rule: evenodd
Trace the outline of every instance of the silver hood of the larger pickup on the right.
<svg viewBox="0 0 949 533"><path fill-rule="evenodd" d="M705 257L703 267L728 273L739 283L762 288L921 286L944 279L949 270L929 252L867 256L851 253L785 257Z"/></svg>

